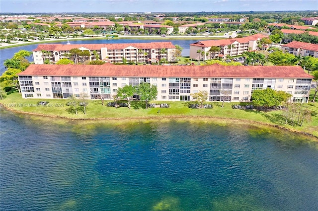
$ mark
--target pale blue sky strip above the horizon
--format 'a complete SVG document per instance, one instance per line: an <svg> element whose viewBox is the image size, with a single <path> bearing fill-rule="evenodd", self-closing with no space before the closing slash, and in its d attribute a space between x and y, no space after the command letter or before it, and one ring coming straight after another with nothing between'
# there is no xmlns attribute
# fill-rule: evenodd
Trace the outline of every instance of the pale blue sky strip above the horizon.
<svg viewBox="0 0 318 211"><path fill-rule="evenodd" d="M318 10L318 0L0 0L0 13L251 10Z"/></svg>

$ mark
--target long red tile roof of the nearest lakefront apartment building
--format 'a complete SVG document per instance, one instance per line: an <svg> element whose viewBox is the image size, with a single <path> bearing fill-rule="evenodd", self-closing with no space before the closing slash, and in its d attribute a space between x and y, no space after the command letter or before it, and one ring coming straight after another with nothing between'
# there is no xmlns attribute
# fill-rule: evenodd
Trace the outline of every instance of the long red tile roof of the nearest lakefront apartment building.
<svg viewBox="0 0 318 211"><path fill-rule="evenodd" d="M300 66L30 65L18 75L313 78Z"/></svg>

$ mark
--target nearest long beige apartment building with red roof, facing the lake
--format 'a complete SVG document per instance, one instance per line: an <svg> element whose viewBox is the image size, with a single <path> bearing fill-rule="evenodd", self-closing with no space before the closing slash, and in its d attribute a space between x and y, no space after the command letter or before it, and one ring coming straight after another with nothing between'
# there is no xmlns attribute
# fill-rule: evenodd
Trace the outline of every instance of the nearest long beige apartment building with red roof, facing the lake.
<svg viewBox="0 0 318 211"><path fill-rule="evenodd" d="M66 99L86 93L90 99L111 99L118 87L150 83L157 100L190 101L191 93L207 91L209 101L248 102L256 89L292 94L308 102L312 75L299 66L118 66L30 65L18 73L22 98Z"/></svg>

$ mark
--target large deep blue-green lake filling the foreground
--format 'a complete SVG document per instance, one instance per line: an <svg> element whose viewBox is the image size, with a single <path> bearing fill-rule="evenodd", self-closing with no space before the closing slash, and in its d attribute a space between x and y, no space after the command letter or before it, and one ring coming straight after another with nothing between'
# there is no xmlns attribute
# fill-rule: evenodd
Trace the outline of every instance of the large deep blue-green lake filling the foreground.
<svg viewBox="0 0 318 211"><path fill-rule="evenodd" d="M318 142L295 134L0 114L1 211L318 210Z"/></svg>

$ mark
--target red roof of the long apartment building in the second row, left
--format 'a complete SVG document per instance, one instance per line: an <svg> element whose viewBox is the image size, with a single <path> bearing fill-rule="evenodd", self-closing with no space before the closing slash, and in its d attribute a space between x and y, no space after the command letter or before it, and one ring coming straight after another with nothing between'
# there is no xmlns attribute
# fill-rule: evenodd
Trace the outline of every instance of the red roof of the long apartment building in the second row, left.
<svg viewBox="0 0 318 211"><path fill-rule="evenodd" d="M69 51L74 48L86 48L89 50L107 49L125 49L127 47L135 47L138 49L174 49L175 46L171 42L151 42L151 43L115 43L115 44L39 44L38 47L32 51Z"/></svg>

